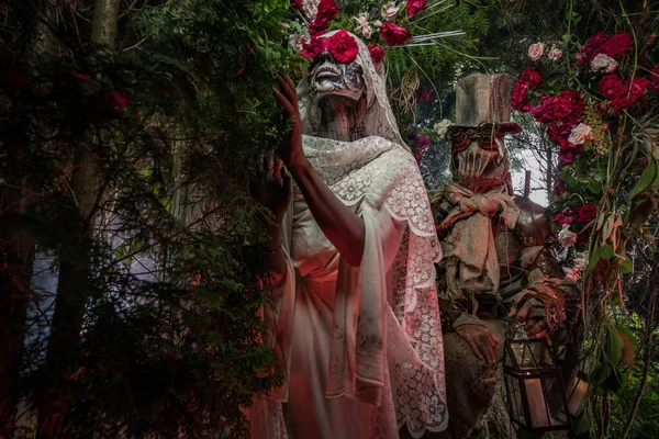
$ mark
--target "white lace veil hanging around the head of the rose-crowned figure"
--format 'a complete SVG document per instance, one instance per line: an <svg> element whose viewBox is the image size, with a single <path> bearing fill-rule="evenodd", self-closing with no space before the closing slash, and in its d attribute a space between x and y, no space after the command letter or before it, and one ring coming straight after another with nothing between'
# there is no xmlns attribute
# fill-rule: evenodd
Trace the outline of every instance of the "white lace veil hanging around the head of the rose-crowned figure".
<svg viewBox="0 0 659 439"><path fill-rule="evenodd" d="M322 37L327 38L336 32L338 31L328 32ZM370 52L366 44L354 34L349 33L349 35L357 42L359 53L357 54L356 63L364 70L362 78L366 86L366 116L364 125L366 136L383 137L410 150L401 137L395 117L391 111L391 105L384 90L384 76L378 74L378 69L370 57ZM300 115L302 116L302 133L310 136L317 136L322 132L321 109L312 100L310 78L310 75L306 74L302 82L298 86L298 103Z"/></svg>

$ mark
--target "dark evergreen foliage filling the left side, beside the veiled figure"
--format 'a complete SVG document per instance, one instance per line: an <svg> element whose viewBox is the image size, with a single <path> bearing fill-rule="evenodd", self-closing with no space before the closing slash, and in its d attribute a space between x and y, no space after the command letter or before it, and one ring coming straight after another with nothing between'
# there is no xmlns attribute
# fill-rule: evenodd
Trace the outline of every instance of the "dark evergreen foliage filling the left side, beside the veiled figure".
<svg viewBox="0 0 659 439"><path fill-rule="evenodd" d="M287 130L277 74L303 63L281 26L288 8L163 2L130 15L129 49L80 45L67 25L56 34L67 58L0 66L14 78L0 94L1 177L34 200L26 216L1 219L31 225L55 275L65 257L90 266L66 376L52 372L52 312L38 309L74 297L35 288L31 330L42 335L23 359L22 394L66 401L74 437L241 437L241 408L280 383L259 338L265 233L248 177ZM102 182L91 241L77 238L70 187L83 148Z"/></svg>

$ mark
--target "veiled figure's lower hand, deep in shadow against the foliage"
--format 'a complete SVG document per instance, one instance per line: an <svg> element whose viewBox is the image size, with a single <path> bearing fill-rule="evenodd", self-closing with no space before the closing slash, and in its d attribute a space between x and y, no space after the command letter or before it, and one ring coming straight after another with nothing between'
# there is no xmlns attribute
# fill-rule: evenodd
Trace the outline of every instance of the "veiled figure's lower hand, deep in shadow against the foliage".
<svg viewBox="0 0 659 439"><path fill-rule="evenodd" d="M280 159L268 154L256 161L256 175L249 181L252 196L272 212L277 225L291 202L291 176Z"/></svg>

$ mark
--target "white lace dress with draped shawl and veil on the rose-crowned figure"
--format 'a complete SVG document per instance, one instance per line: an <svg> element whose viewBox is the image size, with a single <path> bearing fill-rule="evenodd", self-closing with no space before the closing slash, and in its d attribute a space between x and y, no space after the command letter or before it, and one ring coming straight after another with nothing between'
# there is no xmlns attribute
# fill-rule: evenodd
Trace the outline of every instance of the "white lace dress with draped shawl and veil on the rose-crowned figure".
<svg viewBox="0 0 659 439"><path fill-rule="evenodd" d="M295 190L284 221L287 270L265 309L283 385L250 412L254 439L420 438L442 431L446 409L434 262L442 257L416 161L400 138L366 45L368 137L317 137L309 81L298 89L304 153L362 219L360 267L325 238Z"/></svg>

